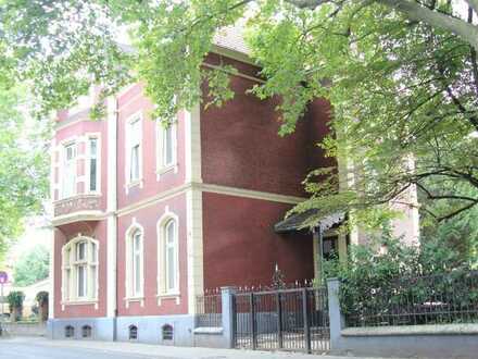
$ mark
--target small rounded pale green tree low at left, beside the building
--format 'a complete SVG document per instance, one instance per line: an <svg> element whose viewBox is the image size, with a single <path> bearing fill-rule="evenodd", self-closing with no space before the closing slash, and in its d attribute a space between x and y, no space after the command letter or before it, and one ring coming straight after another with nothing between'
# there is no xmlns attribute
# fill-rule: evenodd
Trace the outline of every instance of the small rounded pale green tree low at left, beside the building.
<svg viewBox="0 0 478 359"><path fill-rule="evenodd" d="M50 255L43 245L35 246L15 263L13 281L16 286L26 286L45 280L49 274Z"/></svg>

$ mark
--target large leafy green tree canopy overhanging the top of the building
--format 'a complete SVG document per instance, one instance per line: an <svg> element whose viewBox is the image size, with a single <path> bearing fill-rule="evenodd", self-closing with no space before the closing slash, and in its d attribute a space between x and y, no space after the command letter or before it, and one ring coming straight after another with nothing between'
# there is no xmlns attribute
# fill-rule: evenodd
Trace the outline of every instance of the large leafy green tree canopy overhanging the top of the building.
<svg viewBox="0 0 478 359"><path fill-rule="evenodd" d="M334 107L332 133L322 146L342 171L312 173L311 199L298 211L316 208L320 216L352 210L372 222L389 216L391 200L408 201L414 187L429 200L455 203L437 221L478 203L476 195L460 190L478 188L476 0L464 7L444 0L1 4L0 46L7 51L0 63L33 79L43 112L71 104L90 83L111 94L130 74L146 82L165 122L200 99L202 81L211 103L221 106L234 96L228 82L235 70L201 64L217 30L242 22L265 79L251 91L281 99L280 135L294 131L314 99L325 97ZM116 42L122 26L129 29L133 53ZM439 182L451 189L433 185Z"/></svg>

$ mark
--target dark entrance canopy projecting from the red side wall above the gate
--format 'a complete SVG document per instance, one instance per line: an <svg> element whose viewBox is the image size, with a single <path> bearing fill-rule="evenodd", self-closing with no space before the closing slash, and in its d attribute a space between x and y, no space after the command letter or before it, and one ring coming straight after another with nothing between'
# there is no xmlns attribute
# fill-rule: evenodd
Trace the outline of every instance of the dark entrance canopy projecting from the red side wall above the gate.
<svg viewBox="0 0 478 359"><path fill-rule="evenodd" d="M344 212L336 212L324 216L317 216L317 209L310 209L302 213L289 215L284 221L274 225L276 233L287 233L301 231L305 227L320 227L320 231L327 231L338 226L345 219ZM315 218L315 219L314 219Z"/></svg>

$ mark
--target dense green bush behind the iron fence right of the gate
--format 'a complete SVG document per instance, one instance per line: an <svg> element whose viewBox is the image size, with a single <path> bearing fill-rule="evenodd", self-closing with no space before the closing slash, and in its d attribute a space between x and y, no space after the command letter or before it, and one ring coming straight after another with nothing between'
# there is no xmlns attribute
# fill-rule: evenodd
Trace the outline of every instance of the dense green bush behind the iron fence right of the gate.
<svg viewBox="0 0 478 359"><path fill-rule="evenodd" d="M439 306L444 311L466 306L478 310L478 273L460 258L439 242L406 246L385 231L366 246L352 246L347 262L326 261L324 271L341 282L339 299L352 322L348 324L420 324L430 319L408 314ZM450 315L431 320L454 321Z"/></svg>

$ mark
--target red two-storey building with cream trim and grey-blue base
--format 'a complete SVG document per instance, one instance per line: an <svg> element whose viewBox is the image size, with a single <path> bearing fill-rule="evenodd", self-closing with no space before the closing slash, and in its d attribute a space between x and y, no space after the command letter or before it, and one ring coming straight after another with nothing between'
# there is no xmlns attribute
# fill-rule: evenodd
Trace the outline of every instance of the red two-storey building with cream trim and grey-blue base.
<svg viewBox="0 0 478 359"><path fill-rule="evenodd" d="M314 277L309 233L274 225L305 197L312 169L332 165L314 145L328 132L329 104L309 107L280 138L275 107L247 89L261 81L243 45L217 38L205 66L232 64L234 100L180 111L161 127L142 84L108 100L103 121L88 119L95 91L58 116L52 154L55 228L50 310L53 337L192 345L196 296L221 286ZM347 239L326 234L327 248ZM169 326L167 326L169 327ZM93 333L93 334L91 334Z"/></svg>

